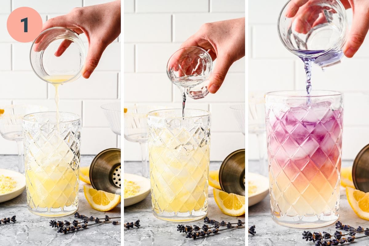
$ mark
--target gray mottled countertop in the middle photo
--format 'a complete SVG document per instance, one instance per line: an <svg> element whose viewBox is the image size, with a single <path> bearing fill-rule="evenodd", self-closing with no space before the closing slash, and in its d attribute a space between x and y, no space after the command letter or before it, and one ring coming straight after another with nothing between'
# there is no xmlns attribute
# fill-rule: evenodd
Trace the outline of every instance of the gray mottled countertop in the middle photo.
<svg viewBox="0 0 369 246"><path fill-rule="evenodd" d="M211 162L210 170L217 170L220 162ZM141 162L125 162L124 173L141 175ZM213 188L209 188L208 214L210 219L225 222L237 222L238 219L245 221L245 216L233 217L223 214L214 201ZM221 231L218 234L197 238L195 240L186 238L184 233L177 232L177 225L198 225L202 226L203 220L173 223L157 219L151 212L151 195L145 200L124 208L124 222L134 222L140 220L141 227L134 229L124 229L124 245L245 245L245 229L230 229Z"/></svg>

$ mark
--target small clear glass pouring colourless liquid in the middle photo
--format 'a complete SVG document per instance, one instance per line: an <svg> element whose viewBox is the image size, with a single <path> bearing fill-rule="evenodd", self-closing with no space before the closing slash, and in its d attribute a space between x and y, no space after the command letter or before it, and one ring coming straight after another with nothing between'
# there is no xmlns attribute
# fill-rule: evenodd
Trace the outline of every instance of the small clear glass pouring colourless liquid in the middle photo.
<svg viewBox="0 0 369 246"><path fill-rule="evenodd" d="M213 59L203 48L189 46L170 56L166 73L170 81L181 91L184 89L193 99L204 98L209 91L208 77L213 69Z"/></svg>

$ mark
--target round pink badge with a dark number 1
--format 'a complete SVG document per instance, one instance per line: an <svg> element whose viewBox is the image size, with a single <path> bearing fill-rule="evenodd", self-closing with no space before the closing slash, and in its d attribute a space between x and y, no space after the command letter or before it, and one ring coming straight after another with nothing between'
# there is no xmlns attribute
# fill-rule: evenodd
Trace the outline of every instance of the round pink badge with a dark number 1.
<svg viewBox="0 0 369 246"><path fill-rule="evenodd" d="M6 26L10 36L16 41L31 42L42 30L42 18L33 8L20 7L10 13Z"/></svg>

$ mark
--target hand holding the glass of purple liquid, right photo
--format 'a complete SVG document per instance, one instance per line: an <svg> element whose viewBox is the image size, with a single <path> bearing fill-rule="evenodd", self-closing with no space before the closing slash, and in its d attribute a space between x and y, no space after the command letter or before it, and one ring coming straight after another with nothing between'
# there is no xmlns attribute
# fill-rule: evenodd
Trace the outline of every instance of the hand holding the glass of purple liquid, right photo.
<svg viewBox="0 0 369 246"><path fill-rule="evenodd" d="M317 11L317 8L309 5L318 0L292 0L288 5L286 17L299 19L296 31L307 33L311 27L325 22L325 18ZM353 20L348 39L343 48L345 56L351 58L362 45L369 29L369 1L366 0L341 0L345 9L352 8Z"/></svg>

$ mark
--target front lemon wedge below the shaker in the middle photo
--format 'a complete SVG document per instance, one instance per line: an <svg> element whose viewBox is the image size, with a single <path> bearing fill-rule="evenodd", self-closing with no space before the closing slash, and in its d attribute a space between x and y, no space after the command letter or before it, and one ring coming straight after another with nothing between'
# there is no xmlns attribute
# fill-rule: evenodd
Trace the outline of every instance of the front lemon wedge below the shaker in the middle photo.
<svg viewBox="0 0 369 246"><path fill-rule="evenodd" d="M240 216L245 214L245 197L213 188L215 202L223 214Z"/></svg>

